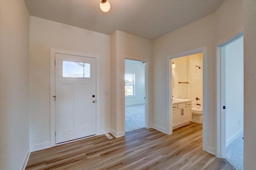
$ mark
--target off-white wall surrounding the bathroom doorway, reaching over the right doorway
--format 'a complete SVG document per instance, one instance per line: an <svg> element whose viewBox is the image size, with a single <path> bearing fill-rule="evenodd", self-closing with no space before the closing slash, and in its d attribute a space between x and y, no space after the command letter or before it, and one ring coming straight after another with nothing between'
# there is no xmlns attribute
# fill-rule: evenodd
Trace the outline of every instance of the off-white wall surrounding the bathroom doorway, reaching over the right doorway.
<svg viewBox="0 0 256 170"><path fill-rule="evenodd" d="M214 146L214 43L243 25L242 1L224 1L218 10L205 18L188 24L153 41L153 124L166 129L166 56L207 46L208 137L207 150ZM205 104L204 104L205 105Z"/></svg>

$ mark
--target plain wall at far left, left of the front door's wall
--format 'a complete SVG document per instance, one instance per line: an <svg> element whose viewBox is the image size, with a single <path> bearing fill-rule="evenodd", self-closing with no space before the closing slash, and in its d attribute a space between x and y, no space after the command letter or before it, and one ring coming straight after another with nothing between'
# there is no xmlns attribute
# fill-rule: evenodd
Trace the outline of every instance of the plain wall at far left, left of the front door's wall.
<svg viewBox="0 0 256 170"><path fill-rule="evenodd" d="M22 168L29 152L29 13L0 1L0 169Z"/></svg>

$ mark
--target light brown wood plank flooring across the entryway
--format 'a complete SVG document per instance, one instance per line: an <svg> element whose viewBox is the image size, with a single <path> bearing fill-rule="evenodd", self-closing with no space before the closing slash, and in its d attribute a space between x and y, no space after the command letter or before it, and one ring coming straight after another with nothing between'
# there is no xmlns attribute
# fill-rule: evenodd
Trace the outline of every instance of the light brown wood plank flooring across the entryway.
<svg viewBox="0 0 256 170"><path fill-rule="evenodd" d="M190 123L167 135L154 128L105 135L30 154L26 169L60 170L232 170L223 159L202 150L202 124Z"/></svg>

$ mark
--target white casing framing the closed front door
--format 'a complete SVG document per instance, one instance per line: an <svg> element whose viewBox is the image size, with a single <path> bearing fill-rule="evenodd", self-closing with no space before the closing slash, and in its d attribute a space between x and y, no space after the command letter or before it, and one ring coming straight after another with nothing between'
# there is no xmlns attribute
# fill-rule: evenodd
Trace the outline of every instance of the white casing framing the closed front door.
<svg viewBox="0 0 256 170"><path fill-rule="evenodd" d="M64 51L60 49L50 49L50 146L56 146L59 144L55 143L55 54L67 54L67 55L76 55L80 57L90 57L90 58L95 58L96 59L96 135L99 134L99 120L100 120L100 115L99 115L99 110L100 110L100 101L97 100L100 97L99 91L99 78L100 78L100 57L99 55L92 55L92 54L86 54L86 53L79 53L79 52L73 52L73 51ZM74 140L72 140L74 141ZM69 141L69 142L72 142ZM66 143L66 142L64 142ZM61 143L63 144L63 143Z"/></svg>

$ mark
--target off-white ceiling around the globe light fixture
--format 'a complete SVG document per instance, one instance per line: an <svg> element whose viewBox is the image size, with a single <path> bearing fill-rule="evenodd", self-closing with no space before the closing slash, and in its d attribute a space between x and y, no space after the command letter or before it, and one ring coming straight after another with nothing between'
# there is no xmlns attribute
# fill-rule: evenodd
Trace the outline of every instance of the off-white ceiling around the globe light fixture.
<svg viewBox="0 0 256 170"><path fill-rule="evenodd" d="M224 0L25 0L31 16L111 35L115 30L154 40L214 13Z"/></svg>

